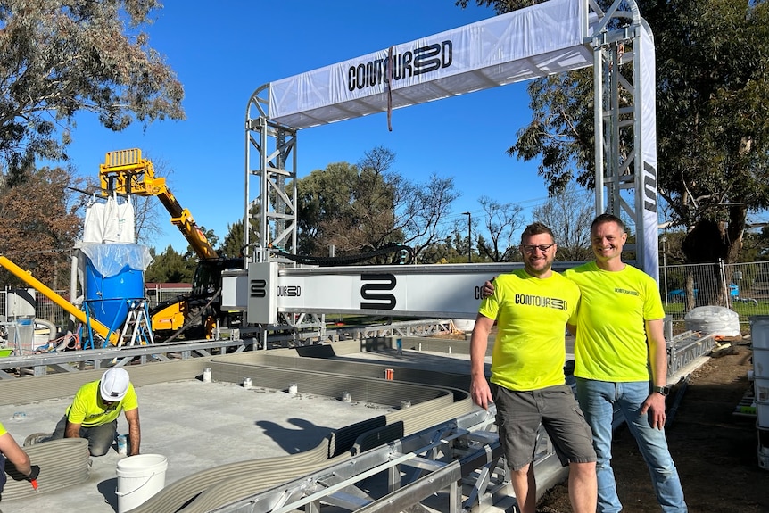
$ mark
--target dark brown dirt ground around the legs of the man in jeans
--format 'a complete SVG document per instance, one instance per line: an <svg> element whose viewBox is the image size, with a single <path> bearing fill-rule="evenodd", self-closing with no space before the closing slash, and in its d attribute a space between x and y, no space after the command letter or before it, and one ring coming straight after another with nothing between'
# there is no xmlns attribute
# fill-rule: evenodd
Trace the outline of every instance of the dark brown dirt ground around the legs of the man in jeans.
<svg viewBox="0 0 769 513"><path fill-rule="evenodd" d="M749 342L732 343L721 352L690 375L676 410L680 385L668 397L668 416L673 413L668 444L690 512L769 513L769 470L758 466L756 418L734 415L752 386ZM624 513L660 511L646 465L624 427L615 434L612 454ZM566 485L546 492L537 510L571 511Z"/></svg>

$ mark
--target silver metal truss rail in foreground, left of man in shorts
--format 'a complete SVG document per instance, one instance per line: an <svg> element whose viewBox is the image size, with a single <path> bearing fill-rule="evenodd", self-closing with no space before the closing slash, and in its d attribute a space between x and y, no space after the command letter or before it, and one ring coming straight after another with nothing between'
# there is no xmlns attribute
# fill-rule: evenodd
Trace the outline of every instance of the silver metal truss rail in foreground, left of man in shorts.
<svg viewBox="0 0 769 513"><path fill-rule="evenodd" d="M493 407L477 410L211 511L483 510L492 506L494 496L507 495L509 483L509 471L500 460L499 438L491 431L495 413ZM537 480L544 488L561 476L560 462L552 451L536 466ZM371 491L377 487L378 496Z"/></svg>

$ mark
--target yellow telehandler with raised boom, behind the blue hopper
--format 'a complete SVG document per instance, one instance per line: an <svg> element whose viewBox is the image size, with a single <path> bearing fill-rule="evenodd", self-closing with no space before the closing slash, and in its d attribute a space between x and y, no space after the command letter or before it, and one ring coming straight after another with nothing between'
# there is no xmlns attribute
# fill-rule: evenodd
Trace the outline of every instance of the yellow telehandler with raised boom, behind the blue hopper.
<svg viewBox="0 0 769 513"><path fill-rule="evenodd" d="M222 312L221 272L241 269L243 259L222 258L198 228L190 211L182 208L166 186L165 178L155 177L153 163L142 158L138 148L109 152L99 166L101 194L156 196L171 215L173 223L192 246L199 262L194 272L192 291L161 302L150 310L156 340L184 334L186 340L210 338L217 325L239 324L240 313Z"/></svg>

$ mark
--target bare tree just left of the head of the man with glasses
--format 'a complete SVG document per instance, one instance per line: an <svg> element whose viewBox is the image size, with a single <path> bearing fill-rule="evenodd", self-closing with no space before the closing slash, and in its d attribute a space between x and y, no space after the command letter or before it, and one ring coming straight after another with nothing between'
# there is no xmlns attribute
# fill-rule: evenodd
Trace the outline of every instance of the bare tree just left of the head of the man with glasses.
<svg viewBox="0 0 769 513"><path fill-rule="evenodd" d="M513 237L517 230L524 228L524 209L515 203L499 203L488 196L482 196L478 203L485 213L484 228L491 236L489 243L478 237L478 253L492 261L509 261L518 245Z"/></svg>

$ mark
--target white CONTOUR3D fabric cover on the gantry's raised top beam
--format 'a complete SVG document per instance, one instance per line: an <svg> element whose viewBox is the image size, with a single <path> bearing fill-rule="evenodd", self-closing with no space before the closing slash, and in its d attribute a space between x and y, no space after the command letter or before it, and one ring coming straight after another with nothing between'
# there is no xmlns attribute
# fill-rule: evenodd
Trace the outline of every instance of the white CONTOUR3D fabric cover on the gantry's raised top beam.
<svg viewBox="0 0 769 513"><path fill-rule="evenodd" d="M447 30L269 84L269 118L291 128L393 109L592 64L585 2L543 4Z"/></svg>

